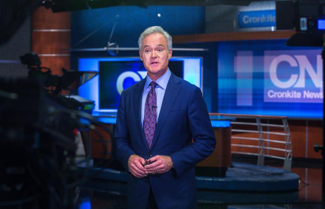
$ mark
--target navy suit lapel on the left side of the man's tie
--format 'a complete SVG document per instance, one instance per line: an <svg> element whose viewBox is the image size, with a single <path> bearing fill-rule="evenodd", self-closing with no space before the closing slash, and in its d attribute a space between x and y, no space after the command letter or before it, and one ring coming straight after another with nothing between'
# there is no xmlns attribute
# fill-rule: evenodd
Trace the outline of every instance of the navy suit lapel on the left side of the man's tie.
<svg viewBox="0 0 325 209"><path fill-rule="evenodd" d="M136 118L137 130L139 131L139 136L143 141L146 149L149 151L149 147L147 145L146 137L144 136L143 128L141 124L142 91L145 83L146 83L146 79L142 79L140 82L136 84L136 87L133 90L133 110L134 110L134 116Z"/></svg>

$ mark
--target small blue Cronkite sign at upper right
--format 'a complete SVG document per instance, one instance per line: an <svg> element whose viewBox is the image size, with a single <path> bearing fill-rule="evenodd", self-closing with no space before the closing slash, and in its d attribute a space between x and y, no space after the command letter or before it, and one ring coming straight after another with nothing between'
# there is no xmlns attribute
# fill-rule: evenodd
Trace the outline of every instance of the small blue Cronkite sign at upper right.
<svg viewBox="0 0 325 209"><path fill-rule="evenodd" d="M238 12L237 19L239 28L276 26L274 9Z"/></svg>

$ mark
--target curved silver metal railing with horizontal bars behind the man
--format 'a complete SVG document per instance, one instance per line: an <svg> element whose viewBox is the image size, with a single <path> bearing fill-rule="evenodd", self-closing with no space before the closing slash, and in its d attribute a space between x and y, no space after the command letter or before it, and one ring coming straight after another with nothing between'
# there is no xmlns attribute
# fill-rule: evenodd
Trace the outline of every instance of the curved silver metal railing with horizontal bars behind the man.
<svg viewBox="0 0 325 209"><path fill-rule="evenodd" d="M236 148L237 150L240 148L244 149L232 151L231 153L255 155L257 156L258 165L264 165L265 157L281 159L284 161L283 169L291 170L292 142L286 117L223 113L210 114L236 118L236 121L231 122L231 146L235 150ZM233 141L237 141L237 143ZM253 141L257 141L257 145L254 145ZM270 154L270 151L273 151L273 154ZM275 151L277 152L276 154L274 154Z"/></svg>

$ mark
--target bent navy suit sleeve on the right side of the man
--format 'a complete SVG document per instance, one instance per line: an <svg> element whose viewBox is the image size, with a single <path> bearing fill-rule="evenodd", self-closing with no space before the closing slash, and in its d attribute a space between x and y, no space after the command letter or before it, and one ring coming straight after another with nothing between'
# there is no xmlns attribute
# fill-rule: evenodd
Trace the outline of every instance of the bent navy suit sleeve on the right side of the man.
<svg viewBox="0 0 325 209"><path fill-rule="evenodd" d="M182 176L211 155L215 149L216 140L200 88L195 88L189 98L188 126L194 142L170 155L176 177Z"/></svg>

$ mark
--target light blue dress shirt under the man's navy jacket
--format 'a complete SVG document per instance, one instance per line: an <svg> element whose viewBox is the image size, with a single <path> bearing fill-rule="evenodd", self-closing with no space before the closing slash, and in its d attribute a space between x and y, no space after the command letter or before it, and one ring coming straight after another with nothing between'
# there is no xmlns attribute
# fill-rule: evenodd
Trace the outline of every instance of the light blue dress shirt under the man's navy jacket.
<svg viewBox="0 0 325 209"><path fill-rule="evenodd" d="M158 121L158 117L159 117L159 113L162 107L162 100L163 100L163 96L165 95L165 91L166 91L166 87L168 84L168 80L170 78L170 70L169 68L167 69L167 71L160 77L157 79L156 83L158 84L155 88L156 91L156 96L157 96L157 118L156 120ZM151 83L151 78L147 75L146 76L146 84L144 85L144 89L142 92L142 103L141 103L141 124L143 126L143 120L144 120L144 111L145 111L145 105L146 105L146 99L147 99L147 95L150 91L151 86L149 86L149 84Z"/></svg>

